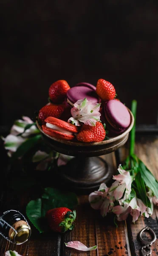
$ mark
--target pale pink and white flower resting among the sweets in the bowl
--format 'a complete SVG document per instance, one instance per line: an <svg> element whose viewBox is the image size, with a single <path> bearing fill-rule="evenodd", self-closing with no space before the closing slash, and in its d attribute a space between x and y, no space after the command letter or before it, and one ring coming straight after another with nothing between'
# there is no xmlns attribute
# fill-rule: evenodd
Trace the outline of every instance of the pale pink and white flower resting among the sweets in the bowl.
<svg viewBox="0 0 158 256"><path fill-rule="evenodd" d="M74 108L71 108L72 117L68 119L68 122L72 122L72 124L77 126L80 126L79 122L95 126L96 122L100 121L100 103L93 103L85 98L78 100L73 106Z"/></svg>

